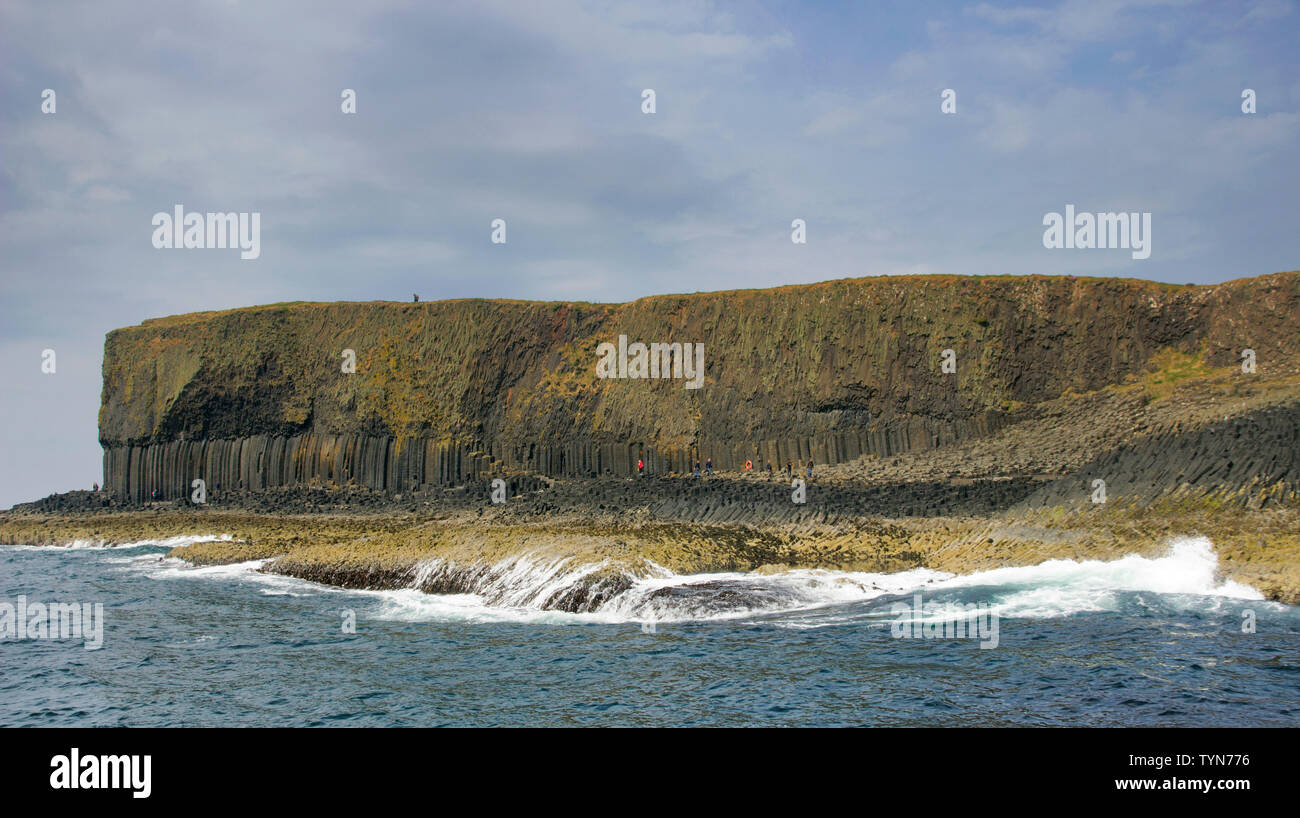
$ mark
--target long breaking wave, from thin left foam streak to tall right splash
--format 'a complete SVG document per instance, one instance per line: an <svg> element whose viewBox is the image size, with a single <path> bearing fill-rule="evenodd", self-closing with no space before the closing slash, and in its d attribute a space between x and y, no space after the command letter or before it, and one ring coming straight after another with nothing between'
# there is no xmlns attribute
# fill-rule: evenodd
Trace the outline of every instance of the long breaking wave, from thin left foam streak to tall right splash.
<svg viewBox="0 0 1300 818"><path fill-rule="evenodd" d="M798 568L679 575L640 566L520 554L495 563L429 559L400 590L348 590L263 572L270 561L192 567L156 554L129 558L156 579L251 580L265 594L361 594L378 619L399 622L684 623L767 618L779 627L868 623L883 627L885 602L979 602L1002 618L1060 618L1128 605L1206 613L1262 602L1248 585L1222 580L1205 537L1170 542L1161 557L1050 559L1036 566L953 575L928 568L871 574ZM880 600L880 603L872 601ZM867 605L863 605L867 603ZM1264 602L1279 610L1280 603Z"/></svg>

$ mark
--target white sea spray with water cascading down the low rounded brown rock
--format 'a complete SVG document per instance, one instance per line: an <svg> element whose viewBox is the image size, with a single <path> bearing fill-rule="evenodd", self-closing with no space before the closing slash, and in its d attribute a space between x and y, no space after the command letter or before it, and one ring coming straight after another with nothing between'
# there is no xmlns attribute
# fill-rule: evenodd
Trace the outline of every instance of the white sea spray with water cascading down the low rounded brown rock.
<svg viewBox="0 0 1300 818"><path fill-rule="evenodd" d="M991 616L1067 616L1113 610L1115 594L1148 590L1191 597L1262 600L1252 588L1218 581L1217 557L1205 538L1179 538L1164 557L1127 555L1110 562L1054 559L1037 566L994 568L954 576L927 568L870 574L797 568L779 574L679 575L645 561L636 570L608 561L578 563L537 554L497 563L420 564L412 587L428 593L473 594L458 603L524 611L566 611L598 622L693 622L789 614L875 598L927 593L975 594L984 624L976 636L992 641ZM381 592L384 593L384 592ZM404 597L410 601L410 597ZM437 606L420 605L437 616ZM419 618L419 615L417 615ZM826 619L826 622L831 622ZM875 623L884 627L881 623ZM801 627L798 624L793 627Z"/></svg>

